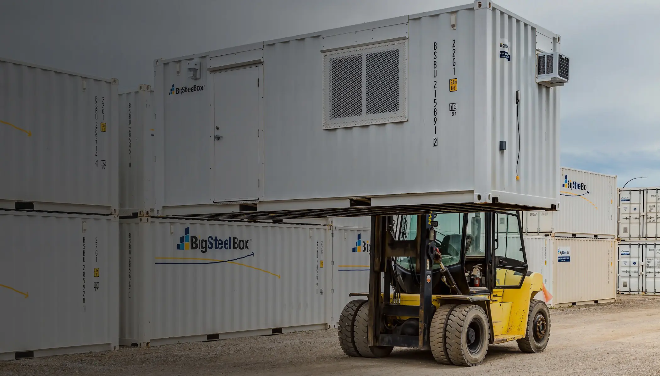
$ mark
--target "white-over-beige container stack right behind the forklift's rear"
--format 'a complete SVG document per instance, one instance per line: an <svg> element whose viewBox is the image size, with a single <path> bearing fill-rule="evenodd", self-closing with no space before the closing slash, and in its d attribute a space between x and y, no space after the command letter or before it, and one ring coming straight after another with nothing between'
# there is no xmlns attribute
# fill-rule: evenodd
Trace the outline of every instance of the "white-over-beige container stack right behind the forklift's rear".
<svg viewBox="0 0 660 376"><path fill-rule="evenodd" d="M562 168L560 210L523 213L526 237L552 237L554 305L603 303L616 298L614 198L616 176Z"/></svg>

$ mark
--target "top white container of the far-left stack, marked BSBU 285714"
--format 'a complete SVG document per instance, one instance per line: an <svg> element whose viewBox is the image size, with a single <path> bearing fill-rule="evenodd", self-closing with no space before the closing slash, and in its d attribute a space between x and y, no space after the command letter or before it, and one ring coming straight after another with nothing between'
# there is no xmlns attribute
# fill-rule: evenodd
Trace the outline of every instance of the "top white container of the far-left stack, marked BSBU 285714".
<svg viewBox="0 0 660 376"><path fill-rule="evenodd" d="M0 59L0 208L116 210L117 116L116 78Z"/></svg>

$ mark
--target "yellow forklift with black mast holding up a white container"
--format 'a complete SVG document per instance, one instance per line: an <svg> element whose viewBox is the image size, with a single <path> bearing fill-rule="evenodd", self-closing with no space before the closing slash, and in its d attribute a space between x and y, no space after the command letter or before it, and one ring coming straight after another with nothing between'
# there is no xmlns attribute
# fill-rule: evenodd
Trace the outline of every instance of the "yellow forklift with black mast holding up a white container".
<svg viewBox="0 0 660 376"><path fill-rule="evenodd" d="M369 292L339 318L348 356L394 346L431 350L439 363L479 365L489 344L542 352L550 315L541 274L529 272L517 212L372 217Z"/></svg>

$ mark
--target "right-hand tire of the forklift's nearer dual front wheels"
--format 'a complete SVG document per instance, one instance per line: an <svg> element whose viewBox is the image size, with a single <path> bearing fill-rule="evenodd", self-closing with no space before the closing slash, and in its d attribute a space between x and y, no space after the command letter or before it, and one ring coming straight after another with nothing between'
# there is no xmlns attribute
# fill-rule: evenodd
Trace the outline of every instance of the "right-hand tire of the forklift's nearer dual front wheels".
<svg viewBox="0 0 660 376"><path fill-rule="evenodd" d="M469 328L475 332L473 344L469 344ZM479 305L461 304L449 313L445 329L445 344L451 363L467 367L480 365L486 358L489 339L488 316ZM471 349L470 346L476 348Z"/></svg>

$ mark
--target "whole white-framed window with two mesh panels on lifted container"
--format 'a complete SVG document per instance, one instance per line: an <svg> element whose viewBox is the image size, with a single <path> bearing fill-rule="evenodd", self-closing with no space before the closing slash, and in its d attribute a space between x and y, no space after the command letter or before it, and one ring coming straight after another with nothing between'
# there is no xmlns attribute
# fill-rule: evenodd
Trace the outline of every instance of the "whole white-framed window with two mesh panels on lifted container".
<svg viewBox="0 0 660 376"><path fill-rule="evenodd" d="M390 42L324 55L323 128L407 120L407 45Z"/></svg>

